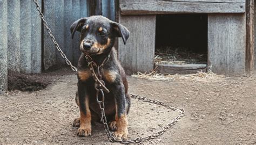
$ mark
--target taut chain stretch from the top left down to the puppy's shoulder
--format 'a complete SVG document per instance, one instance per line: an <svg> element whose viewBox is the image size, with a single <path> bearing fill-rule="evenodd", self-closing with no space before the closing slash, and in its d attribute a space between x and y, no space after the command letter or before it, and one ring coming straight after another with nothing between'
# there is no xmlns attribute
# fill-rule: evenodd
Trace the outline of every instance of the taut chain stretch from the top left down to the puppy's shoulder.
<svg viewBox="0 0 256 145"><path fill-rule="evenodd" d="M41 10L41 8L40 8L40 6L39 6L37 0L33 0L33 2L36 4L36 9L37 9L37 11L39 12L39 16L41 17L41 19L42 19L42 21L43 21L43 24L44 24L44 26L45 26L45 28L46 28L46 32L50 35L51 40L52 40L53 44L55 45L55 47L57 48L58 52L59 52L60 55L63 57L63 59L65 60L66 64L68 64L68 65L71 67L71 69L72 69L73 71L77 72L77 68L74 67L74 66L72 65L72 63L68 60L68 58L66 57L66 55L63 53L62 49L60 49L60 47L59 47L59 45L58 45L58 43L57 43L55 37L52 35L51 29L50 29L50 27L48 26L48 23L46 22L46 20L44 19L44 14L43 14L43 12L42 12L42 10Z"/></svg>

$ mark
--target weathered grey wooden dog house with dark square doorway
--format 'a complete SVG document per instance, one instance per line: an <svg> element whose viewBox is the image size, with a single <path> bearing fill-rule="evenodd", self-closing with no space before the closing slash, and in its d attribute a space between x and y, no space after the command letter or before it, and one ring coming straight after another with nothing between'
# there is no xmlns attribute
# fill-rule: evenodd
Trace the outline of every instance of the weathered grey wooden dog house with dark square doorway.
<svg viewBox="0 0 256 145"><path fill-rule="evenodd" d="M250 2L253 3L253 1ZM180 72L198 71L205 70L207 67L218 74L242 74L246 69L253 68L254 48L246 45L246 34L254 35L250 27L246 33L246 0L120 0L118 13L119 23L124 24L131 32L126 45L119 41L119 59L124 68L132 73L149 72L156 66L163 73L165 71L176 73L176 70ZM163 25L165 22L162 19L164 30L158 32L161 29L157 27L158 23L160 24L158 17L164 17L167 23L174 15L186 19L187 14L191 14L190 16L195 19L190 19L191 22L186 20L186 25L182 25L183 21L181 21L180 25L168 24L167 26ZM250 16L250 13L247 15ZM186 29L185 26L194 25L196 16L203 17L202 22L198 23L201 27L198 30L203 31L203 34L198 34L201 33L199 31L191 31L194 33L191 38L198 37L197 43L205 44L204 49L207 55L205 64L183 66L154 64L157 40L161 39L156 37L172 33L170 30L183 31ZM251 19L253 19L252 16ZM248 20L250 21L250 17ZM166 41L171 41L171 38ZM248 41L248 44L250 43L253 42ZM184 44L186 44L186 39L184 39Z"/></svg>

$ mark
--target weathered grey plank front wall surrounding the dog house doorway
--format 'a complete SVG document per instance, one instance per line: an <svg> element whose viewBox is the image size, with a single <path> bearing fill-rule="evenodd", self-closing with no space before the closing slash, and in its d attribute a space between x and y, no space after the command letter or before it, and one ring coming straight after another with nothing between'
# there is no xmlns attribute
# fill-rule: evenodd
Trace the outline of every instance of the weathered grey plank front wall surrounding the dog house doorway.
<svg viewBox="0 0 256 145"><path fill-rule="evenodd" d="M120 60L133 73L151 71L155 40L150 34L155 34L153 26L156 14L208 13L208 69L217 74L245 73L245 2L246 0L120 0L119 22L131 31L131 41L128 40L126 46L119 43ZM148 28L136 27L143 27L144 21ZM140 44L144 40L150 46Z"/></svg>

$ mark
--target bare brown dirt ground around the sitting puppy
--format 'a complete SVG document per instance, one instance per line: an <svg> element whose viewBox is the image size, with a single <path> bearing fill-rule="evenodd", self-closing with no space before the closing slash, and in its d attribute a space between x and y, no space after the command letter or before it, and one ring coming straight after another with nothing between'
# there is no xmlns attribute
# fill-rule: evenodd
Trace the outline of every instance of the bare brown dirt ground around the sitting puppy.
<svg viewBox="0 0 256 145"><path fill-rule="evenodd" d="M106 143L101 124L93 125L89 137L78 137L77 128L72 127L73 119L79 117L76 75L58 70L42 76L52 82L43 90L15 90L0 96L0 143ZM130 93L186 110L185 117L165 134L143 143L256 144L256 75L217 81L133 77L128 81ZM158 131L177 114L132 99L130 138Z"/></svg>

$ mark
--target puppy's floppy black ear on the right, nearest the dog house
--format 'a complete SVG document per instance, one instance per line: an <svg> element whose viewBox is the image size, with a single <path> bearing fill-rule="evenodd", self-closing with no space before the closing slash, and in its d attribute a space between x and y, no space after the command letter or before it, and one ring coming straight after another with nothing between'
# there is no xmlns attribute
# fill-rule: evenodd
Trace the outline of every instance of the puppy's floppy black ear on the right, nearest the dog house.
<svg viewBox="0 0 256 145"><path fill-rule="evenodd" d="M113 31L117 35L117 37L122 37L124 44L126 44L127 39L130 36L129 30L119 23L113 22L112 23Z"/></svg>

